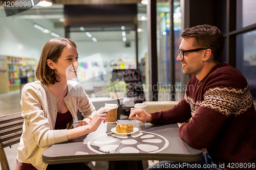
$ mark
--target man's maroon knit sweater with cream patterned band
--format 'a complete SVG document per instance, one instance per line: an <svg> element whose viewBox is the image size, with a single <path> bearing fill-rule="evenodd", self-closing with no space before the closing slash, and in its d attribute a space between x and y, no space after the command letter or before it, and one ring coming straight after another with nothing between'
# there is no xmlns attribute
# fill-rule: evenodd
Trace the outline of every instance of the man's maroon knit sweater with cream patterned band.
<svg viewBox="0 0 256 170"><path fill-rule="evenodd" d="M195 149L206 148L216 163L256 162L256 112L249 86L239 70L218 63L199 81L191 76L175 107L151 113L152 124L189 123L180 137Z"/></svg>

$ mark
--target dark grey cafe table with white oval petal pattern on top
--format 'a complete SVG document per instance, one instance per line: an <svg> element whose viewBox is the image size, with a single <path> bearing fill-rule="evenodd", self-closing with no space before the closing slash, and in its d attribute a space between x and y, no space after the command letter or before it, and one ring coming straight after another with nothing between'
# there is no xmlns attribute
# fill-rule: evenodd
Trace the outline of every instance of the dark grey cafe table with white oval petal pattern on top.
<svg viewBox="0 0 256 170"><path fill-rule="evenodd" d="M128 123L128 120L118 121ZM142 160L193 162L202 159L201 150L191 148L180 138L177 124L155 126L136 120L131 124L134 132L120 135L113 133L116 124L101 123L95 132L53 144L42 153L42 161L48 164L109 161L109 169L135 170L143 169Z"/></svg>

